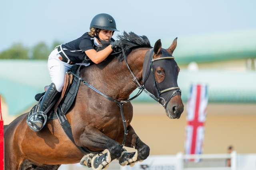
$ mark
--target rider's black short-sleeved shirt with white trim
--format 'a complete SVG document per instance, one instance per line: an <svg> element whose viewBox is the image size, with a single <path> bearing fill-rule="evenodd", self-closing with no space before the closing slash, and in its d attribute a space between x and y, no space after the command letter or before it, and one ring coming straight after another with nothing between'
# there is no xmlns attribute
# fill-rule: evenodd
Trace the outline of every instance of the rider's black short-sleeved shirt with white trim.
<svg viewBox="0 0 256 170"><path fill-rule="evenodd" d="M111 38L111 41L114 39ZM63 44L62 49L73 63L82 63L86 57L84 51L95 49L94 37L91 37L88 33L84 33L80 38Z"/></svg>

